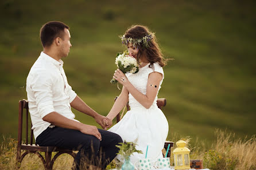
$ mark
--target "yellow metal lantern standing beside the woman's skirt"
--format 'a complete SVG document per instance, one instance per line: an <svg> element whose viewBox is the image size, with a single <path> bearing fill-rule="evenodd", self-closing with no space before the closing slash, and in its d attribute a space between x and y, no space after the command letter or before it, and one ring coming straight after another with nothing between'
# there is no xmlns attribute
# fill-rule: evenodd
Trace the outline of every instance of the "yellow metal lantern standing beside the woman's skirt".
<svg viewBox="0 0 256 170"><path fill-rule="evenodd" d="M177 148L173 150L174 169L190 169L190 150L185 147L186 142L179 140L176 143Z"/></svg>

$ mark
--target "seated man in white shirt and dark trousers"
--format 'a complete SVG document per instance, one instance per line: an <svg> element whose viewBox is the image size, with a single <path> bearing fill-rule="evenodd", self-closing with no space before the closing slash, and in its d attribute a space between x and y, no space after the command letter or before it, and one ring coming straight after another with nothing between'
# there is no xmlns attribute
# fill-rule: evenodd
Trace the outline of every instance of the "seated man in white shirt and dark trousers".
<svg viewBox="0 0 256 170"><path fill-rule="evenodd" d="M86 160L90 161L91 167L106 168L118 152L115 145L121 143L122 139L115 133L74 119L71 107L94 117L104 129L112 125L107 117L86 105L68 84L61 58L68 56L72 46L69 27L58 21L45 23L41 27L40 38L44 51L30 69L26 80L36 143L40 146L79 149L73 169L85 169ZM106 126L103 121L107 121Z"/></svg>

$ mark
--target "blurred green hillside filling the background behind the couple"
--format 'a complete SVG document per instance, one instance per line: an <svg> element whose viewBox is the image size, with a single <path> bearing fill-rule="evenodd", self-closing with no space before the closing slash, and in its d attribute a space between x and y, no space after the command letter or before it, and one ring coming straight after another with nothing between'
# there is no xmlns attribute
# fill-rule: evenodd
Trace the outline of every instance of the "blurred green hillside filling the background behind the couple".
<svg viewBox="0 0 256 170"><path fill-rule="evenodd" d="M73 90L106 115L121 91L110 84L118 35L134 24L156 33L166 58L159 98L172 134L211 143L216 128L237 137L255 132L256 15L254 1L14 1L0 2L0 141L17 137L18 100L42 50L39 30L48 21L71 27L64 69ZM77 120L96 125L77 113Z"/></svg>

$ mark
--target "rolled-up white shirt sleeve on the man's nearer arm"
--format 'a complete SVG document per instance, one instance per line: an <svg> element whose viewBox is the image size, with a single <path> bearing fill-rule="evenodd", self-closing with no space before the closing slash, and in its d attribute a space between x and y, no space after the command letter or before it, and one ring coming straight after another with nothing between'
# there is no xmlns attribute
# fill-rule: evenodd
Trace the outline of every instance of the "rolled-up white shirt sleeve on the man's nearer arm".
<svg viewBox="0 0 256 170"><path fill-rule="evenodd" d="M30 88L36 98L36 105L40 118L45 117L47 114L54 112L52 100L52 80L51 76L47 73L36 73L33 75L33 81Z"/></svg>

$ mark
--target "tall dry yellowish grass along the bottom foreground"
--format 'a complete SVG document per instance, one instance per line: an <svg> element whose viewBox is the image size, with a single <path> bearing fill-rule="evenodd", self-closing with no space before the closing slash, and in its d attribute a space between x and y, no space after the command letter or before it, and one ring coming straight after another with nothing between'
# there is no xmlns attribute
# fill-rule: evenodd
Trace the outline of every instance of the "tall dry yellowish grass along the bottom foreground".
<svg viewBox="0 0 256 170"><path fill-rule="evenodd" d="M216 129L215 139L212 144L205 145L204 140L196 139L191 143L191 138L180 136L178 133L171 133L172 141L184 140L187 143L187 148L191 150L190 159L202 159L203 167L212 170L237 170L255 169L256 161L256 138L246 137L245 139L235 137L235 133L228 133ZM173 151L177 148L175 145L170 148L170 165L174 165ZM0 169L17 169L16 162L17 140L5 138L0 145ZM24 153L25 151L22 151ZM56 152L52 153L52 158ZM45 154L41 152L44 157ZM53 169L70 169L72 167L73 157L68 154L59 156ZM19 164L18 164L19 165ZM38 156L30 153L24 157L20 164L20 169L43 169L42 161ZM121 165L118 165L121 167ZM117 164L112 161L106 169L118 168ZM88 169L84 167L84 169Z"/></svg>

